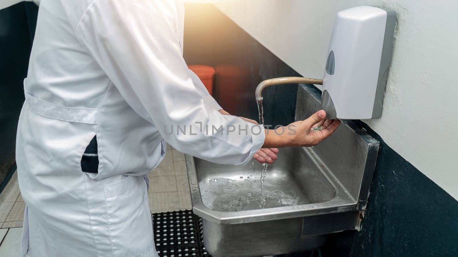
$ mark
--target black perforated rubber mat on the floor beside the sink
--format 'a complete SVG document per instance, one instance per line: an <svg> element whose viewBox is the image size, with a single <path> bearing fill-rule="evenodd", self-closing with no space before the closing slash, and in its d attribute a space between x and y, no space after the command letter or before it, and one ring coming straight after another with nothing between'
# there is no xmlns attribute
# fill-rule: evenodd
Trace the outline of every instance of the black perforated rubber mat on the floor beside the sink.
<svg viewBox="0 0 458 257"><path fill-rule="evenodd" d="M212 257L203 246L202 220L191 210L153 213L159 257Z"/></svg>

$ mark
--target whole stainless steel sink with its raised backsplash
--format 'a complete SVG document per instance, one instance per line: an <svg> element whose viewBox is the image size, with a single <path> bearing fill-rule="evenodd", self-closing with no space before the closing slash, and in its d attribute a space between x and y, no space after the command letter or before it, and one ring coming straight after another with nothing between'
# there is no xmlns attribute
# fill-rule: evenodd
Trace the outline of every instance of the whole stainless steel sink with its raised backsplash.
<svg viewBox="0 0 458 257"><path fill-rule="evenodd" d="M300 85L296 120L320 107ZM320 247L326 235L359 230L379 143L352 121L313 148L280 149L267 167L220 165L186 155L194 213L215 257L262 257ZM261 198L266 203L262 208Z"/></svg>

